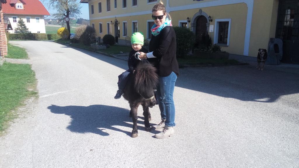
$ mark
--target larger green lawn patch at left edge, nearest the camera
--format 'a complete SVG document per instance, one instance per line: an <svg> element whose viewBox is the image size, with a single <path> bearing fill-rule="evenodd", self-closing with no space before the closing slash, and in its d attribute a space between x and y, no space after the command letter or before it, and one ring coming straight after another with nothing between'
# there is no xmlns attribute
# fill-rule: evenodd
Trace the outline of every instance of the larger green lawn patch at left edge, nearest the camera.
<svg viewBox="0 0 299 168"><path fill-rule="evenodd" d="M16 118L14 110L26 98L36 95L35 73L29 64L4 62L0 67L0 134L8 126L8 121ZM30 89L30 90L28 90Z"/></svg>

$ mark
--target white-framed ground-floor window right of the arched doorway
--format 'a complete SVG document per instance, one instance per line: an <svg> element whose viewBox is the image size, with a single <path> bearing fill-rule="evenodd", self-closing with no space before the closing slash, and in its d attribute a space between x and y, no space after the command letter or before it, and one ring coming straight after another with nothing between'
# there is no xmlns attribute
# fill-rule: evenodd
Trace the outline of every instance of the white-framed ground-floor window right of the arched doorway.
<svg viewBox="0 0 299 168"><path fill-rule="evenodd" d="M214 44L229 46L231 19L215 19Z"/></svg>

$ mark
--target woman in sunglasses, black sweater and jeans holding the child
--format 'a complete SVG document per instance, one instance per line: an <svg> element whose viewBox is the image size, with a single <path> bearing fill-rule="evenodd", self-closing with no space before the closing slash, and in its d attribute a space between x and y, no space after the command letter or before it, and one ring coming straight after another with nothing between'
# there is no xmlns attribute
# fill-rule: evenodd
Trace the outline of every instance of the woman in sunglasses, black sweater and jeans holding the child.
<svg viewBox="0 0 299 168"><path fill-rule="evenodd" d="M140 52L139 58L148 59L158 70L159 85L157 98L161 112L161 122L152 126L153 130L162 130L155 134L156 138L167 138L174 134L176 126L173 91L176 78L179 75L179 65L176 60L176 33L171 24L171 17L166 12L164 4L155 4L152 8L152 39L149 42L149 53Z"/></svg>

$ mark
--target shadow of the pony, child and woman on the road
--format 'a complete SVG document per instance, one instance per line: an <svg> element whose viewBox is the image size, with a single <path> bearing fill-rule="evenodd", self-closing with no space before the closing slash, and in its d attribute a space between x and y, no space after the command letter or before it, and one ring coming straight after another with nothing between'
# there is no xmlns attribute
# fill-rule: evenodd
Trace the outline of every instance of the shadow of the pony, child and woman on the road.
<svg viewBox="0 0 299 168"><path fill-rule="evenodd" d="M118 129L114 126L132 128L132 118L129 117L129 110L120 107L106 105L90 106L57 106L48 107L55 114L65 114L72 118L70 125L67 127L71 132L87 133L91 132L102 136L108 136L106 129L123 132L131 136L131 132ZM144 119L143 117L139 117ZM144 121L137 121L138 130L145 130Z"/></svg>

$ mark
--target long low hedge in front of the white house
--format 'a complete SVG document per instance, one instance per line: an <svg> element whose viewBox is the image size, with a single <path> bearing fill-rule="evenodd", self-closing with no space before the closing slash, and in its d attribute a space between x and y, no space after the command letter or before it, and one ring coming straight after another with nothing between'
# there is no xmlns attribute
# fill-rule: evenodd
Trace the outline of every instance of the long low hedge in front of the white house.
<svg viewBox="0 0 299 168"><path fill-rule="evenodd" d="M9 40L48 40L46 33L11 33Z"/></svg>

